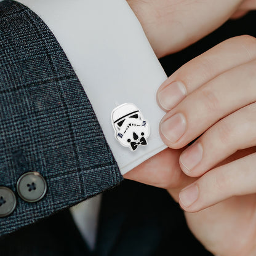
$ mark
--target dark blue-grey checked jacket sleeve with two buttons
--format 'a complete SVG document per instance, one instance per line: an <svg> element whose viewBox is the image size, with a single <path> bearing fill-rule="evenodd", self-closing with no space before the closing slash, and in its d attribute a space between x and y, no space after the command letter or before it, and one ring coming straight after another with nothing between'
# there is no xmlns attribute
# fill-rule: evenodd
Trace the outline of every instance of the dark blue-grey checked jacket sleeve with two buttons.
<svg viewBox="0 0 256 256"><path fill-rule="evenodd" d="M54 35L31 10L0 2L0 186L17 207L0 235L107 190L122 180L92 106ZM37 171L47 193L35 203L16 183Z"/></svg>

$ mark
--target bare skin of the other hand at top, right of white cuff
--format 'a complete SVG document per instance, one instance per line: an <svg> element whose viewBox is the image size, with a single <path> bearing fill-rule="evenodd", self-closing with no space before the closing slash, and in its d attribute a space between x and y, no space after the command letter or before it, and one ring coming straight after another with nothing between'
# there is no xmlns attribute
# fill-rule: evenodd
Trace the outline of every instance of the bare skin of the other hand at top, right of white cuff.
<svg viewBox="0 0 256 256"><path fill-rule="evenodd" d="M230 17L256 8L256 0L127 0L158 57L182 50Z"/></svg>

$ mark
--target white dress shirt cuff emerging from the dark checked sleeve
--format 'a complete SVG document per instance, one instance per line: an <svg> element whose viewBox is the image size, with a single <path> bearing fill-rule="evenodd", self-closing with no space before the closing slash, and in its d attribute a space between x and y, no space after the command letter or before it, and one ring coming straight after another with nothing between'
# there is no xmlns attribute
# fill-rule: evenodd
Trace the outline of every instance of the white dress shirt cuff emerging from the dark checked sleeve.
<svg viewBox="0 0 256 256"><path fill-rule="evenodd" d="M122 174L166 146L156 90L166 79L142 26L125 0L18 0L33 10L64 50L89 97ZM148 145L134 152L114 137L111 111L134 103L150 124Z"/></svg>

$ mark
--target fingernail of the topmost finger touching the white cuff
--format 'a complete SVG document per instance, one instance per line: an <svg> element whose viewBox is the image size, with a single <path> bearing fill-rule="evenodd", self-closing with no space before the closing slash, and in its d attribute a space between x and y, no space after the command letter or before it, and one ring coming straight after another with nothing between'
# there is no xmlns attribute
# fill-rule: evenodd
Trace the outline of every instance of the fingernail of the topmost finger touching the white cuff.
<svg viewBox="0 0 256 256"><path fill-rule="evenodd" d="M186 87L180 81L172 82L158 94L162 108L171 110L186 97Z"/></svg>

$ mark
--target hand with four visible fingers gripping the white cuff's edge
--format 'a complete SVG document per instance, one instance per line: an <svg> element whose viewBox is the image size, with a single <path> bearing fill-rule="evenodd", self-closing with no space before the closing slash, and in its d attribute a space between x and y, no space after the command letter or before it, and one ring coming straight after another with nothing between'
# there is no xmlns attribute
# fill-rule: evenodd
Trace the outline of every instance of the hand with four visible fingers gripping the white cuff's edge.
<svg viewBox="0 0 256 256"><path fill-rule="evenodd" d="M255 65L256 39L239 36L183 65L158 91L166 145L183 148L200 136L180 155L194 182L179 198L169 192L217 255L256 255Z"/></svg>

